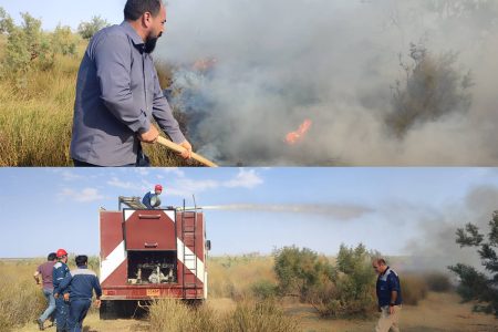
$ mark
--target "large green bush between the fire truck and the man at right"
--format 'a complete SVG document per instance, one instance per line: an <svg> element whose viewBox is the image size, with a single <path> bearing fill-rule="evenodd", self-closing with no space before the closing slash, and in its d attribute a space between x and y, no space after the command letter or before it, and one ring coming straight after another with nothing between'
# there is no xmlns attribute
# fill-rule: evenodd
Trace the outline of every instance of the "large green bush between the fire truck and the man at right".
<svg viewBox="0 0 498 332"><path fill-rule="evenodd" d="M375 274L363 245L341 245L335 268L310 249L287 247L276 252L274 269L281 295L299 295L323 317L367 317L375 309Z"/></svg>

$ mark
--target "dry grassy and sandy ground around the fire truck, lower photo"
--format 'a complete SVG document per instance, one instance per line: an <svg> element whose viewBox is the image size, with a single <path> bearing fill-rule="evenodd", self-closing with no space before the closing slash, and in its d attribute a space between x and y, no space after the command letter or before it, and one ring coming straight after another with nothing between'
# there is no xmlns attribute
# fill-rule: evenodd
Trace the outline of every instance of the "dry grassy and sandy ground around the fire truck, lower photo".
<svg viewBox="0 0 498 332"><path fill-rule="evenodd" d="M32 273L41 262L43 259L0 261L1 331L38 331L34 319L42 311L44 299ZM95 264L96 259L91 262ZM92 309L84 322L84 331L366 332L373 331L375 325L375 314L366 320L328 320L322 319L310 304L291 298L258 307L251 295L251 286L260 280L274 281L272 258L269 257L211 258L209 273L209 299L198 312L176 302L165 302L154 308L151 318L101 321L97 310ZM401 315L403 331L497 331L498 320L494 315L474 313L470 303L461 304L453 292L428 292L418 305L404 305ZM178 322L186 322L181 326L189 329L175 328ZM264 322L266 325L245 325L253 322ZM279 330L276 325L287 330Z"/></svg>

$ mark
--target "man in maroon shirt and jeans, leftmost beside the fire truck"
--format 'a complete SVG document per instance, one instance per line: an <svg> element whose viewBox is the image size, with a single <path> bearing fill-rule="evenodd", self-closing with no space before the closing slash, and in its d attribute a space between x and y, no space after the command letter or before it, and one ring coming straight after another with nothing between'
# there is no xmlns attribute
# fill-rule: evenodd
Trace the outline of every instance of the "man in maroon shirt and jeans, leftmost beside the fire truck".
<svg viewBox="0 0 498 332"><path fill-rule="evenodd" d="M49 307L46 307L45 311L37 320L38 328L40 329L40 331L44 330L44 322L52 317L55 310L55 299L53 298L53 283L52 283L52 272L55 262L56 262L56 253L50 252L49 257L46 258L46 261L41 266L39 266L33 274L37 284L42 286L43 295L45 295L46 301L49 302Z"/></svg>

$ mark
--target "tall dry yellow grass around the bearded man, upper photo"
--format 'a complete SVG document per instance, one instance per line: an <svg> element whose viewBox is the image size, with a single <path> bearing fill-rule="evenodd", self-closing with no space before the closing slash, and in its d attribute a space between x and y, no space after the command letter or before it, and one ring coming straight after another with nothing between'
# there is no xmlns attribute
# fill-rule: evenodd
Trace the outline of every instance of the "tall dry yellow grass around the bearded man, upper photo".
<svg viewBox="0 0 498 332"><path fill-rule="evenodd" d="M0 35L0 56L4 49ZM76 56L58 55L49 71L0 81L0 166L72 166L69 155L76 75L85 42ZM1 58L0 58L1 59ZM167 82L168 69L163 66ZM160 146L146 146L154 166L195 166Z"/></svg>

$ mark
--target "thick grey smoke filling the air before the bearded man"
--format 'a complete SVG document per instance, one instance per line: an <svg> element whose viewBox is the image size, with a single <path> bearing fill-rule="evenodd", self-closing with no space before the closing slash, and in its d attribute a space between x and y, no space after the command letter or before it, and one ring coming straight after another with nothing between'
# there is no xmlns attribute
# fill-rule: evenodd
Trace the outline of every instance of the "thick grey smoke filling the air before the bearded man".
<svg viewBox="0 0 498 332"><path fill-rule="evenodd" d="M496 1L168 2L156 56L178 65L170 101L186 113L197 151L222 165L498 162ZM396 81L406 85L400 61L414 65L411 43L434 60L457 53L453 74L470 71L475 85L468 111L445 101L440 116L424 116L397 137L385 118L395 111ZM193 69L206 59L214 65ZM458 97L445 94L444 82L458 82L445 77L439 97ZM307 118L307 137L286 144Z"/></svg>

